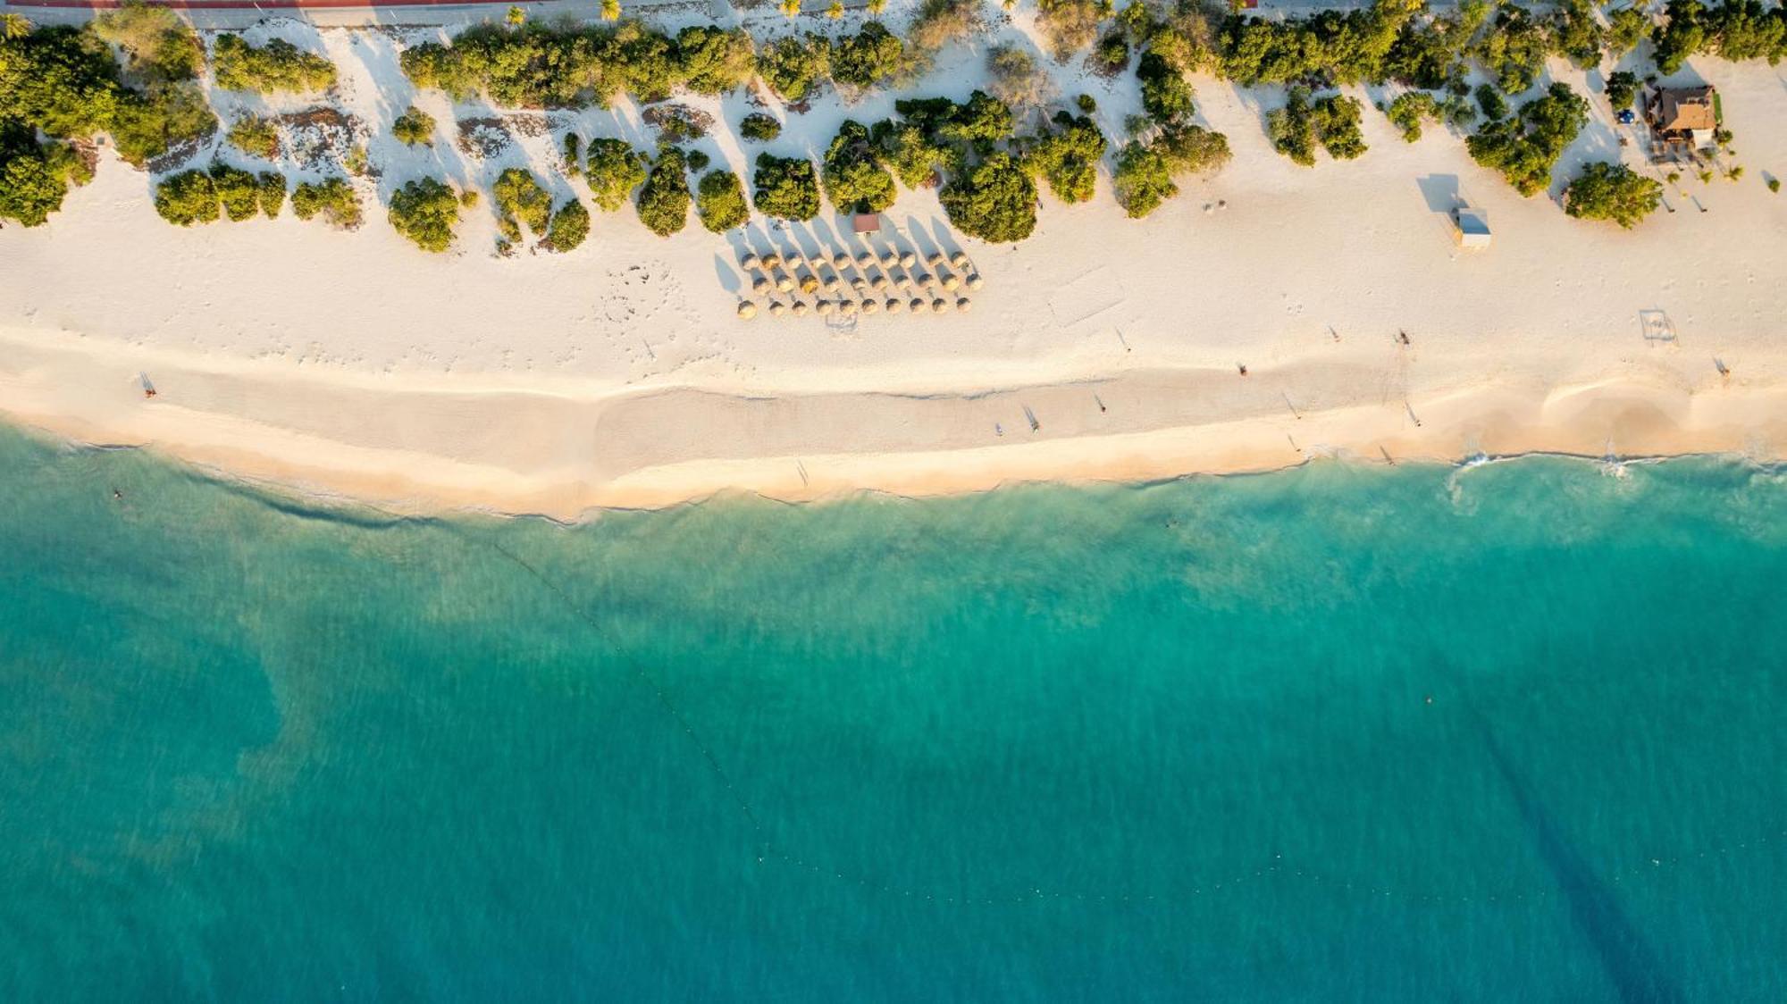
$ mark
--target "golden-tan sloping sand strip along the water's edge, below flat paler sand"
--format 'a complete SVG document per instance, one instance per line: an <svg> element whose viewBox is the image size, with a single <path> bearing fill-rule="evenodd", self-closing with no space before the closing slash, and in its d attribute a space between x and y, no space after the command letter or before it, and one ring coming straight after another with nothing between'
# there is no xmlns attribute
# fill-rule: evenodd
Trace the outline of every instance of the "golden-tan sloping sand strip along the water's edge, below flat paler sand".
<svg viewBox="0 0 1787 1004"><path fill-rule="evenodd" d="M164 389L145 400L138 368L105 361L120 350L14 343L0 361L0 413L63 439L147 448L218 477L411 516L577 522L729 491L779 502L935 497L1260 473L1322 457L1787 456L1787 388L1741 375L1417 379L1396 393L1355 366L1301 359L1247 377L1185 366L931 395L665 384L568 397L291 379L239 363L182 368L179 354L157 352ZM1296 407L1292 393L1306 404ZM1008 416L1003 436L990 431L995 414ZM1042 427L1024 429L1024 414Z"/></svg>

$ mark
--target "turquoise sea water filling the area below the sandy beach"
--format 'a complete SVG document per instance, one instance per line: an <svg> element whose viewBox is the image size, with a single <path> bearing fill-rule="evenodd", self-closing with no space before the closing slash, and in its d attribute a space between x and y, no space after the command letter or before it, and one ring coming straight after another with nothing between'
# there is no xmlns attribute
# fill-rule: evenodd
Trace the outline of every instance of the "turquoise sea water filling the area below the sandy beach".
<svg viewBox="0 0 1787 1004"><path fill-rule="evenodd" d="M1783 650L1737 463L566 529L0 432L0 997L1783 1000Z"/></svg>

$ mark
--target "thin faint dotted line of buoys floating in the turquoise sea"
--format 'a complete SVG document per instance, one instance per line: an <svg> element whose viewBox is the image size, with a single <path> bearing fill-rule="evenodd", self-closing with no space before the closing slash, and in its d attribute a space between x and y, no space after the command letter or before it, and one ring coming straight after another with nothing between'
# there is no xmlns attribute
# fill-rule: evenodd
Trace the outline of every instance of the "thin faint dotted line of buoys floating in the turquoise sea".
<svg viewBox="0 0 1787 1004"><path fill-rule="evenodd" d="M726 788L726 793L738 806L740 815L745 818L747 825L751 827L752 836L758 840L758 863L759 865L768 863L768 861L781 861L783 865L788 865L788 866L792 866L797 872L813 874L813 875L820 875L820 877L831 877L833 881L843 883L847 886L854 884L856 888L865 890L865 891L879 891L879 893L886 893L886 895L897 897L897 899L926 900L926 902L936 902L936 904L944 904L944 906L1026 906L1026 904L1042 904L1042 902L1063 902L1063 904L1094 904L1094 902L1097 902L1097 904L1188 902L1188 900L1194 900L1194 899L1213 897L1217 893L1229 891L1235 886L1240 886L1240 884L1247 883L1249 879L1251 881L1303 879L1303 881L1308 881L1308 883L1313 883L1313 884L1319 884L1319 886L1324 886L1324 888L1330 888L1330 890L1338 890L1338 891L1344 891L1344 893L1365 895L1365 897L1371 897L1371 899L1385 899L1385 900L1394 900L1394 902L1403 902L1403 904L1428 904L1428 906L1444 906L1444 904L1496 904L1496 906L1503 906L1503 904L1523 904L1523 902L1537 904L1537 902L1546 902L1546 900L1551 900L1551 899L1558 899L1562 895L1562 891L1555 890L1555 888L1539 888L1539 890L1531 890L1531 891L1514 891L1514 893L1506 893L1506 891L1501 891L1501 893L1476 893L1476 895L1415 893L1415 891L1408 891L1408 890L1396 890L1396 888L1388 888L1388 886L1378 886L1378 884L1372 884L1372 883L1344 881L1344 879L1337 879L1333 875L1326 875L1326 874L1322 874L1319 870L1313 870L1313 868L1297 866L1297 865L1285 865L1281 854L1274 854L1271 863L1267 863L1263 866L1258 866L1258 868L1254 868L1251 872L1244 870L1240 874L1235 874L1235 875L1226 877L1226 879L1217 881L1217 883L1199 883L1199 884L1192 886L1192 890L1188 893L1187 891L1179 891L1179 893L1167 893L1167 895L1138 893L1138 891L1086 893L1086 891L1044 890L1042 886L1031 884L1031 883L1026 883L1026 886L1029 886L1028 891L1015 893L1015 895L1011 895L1011 893L999 895L999 897L995 897L995 895L963 895L963 893L944 895L944 893L936 893L935 890L908 888L908 886L888 883L885 879L870 879L868 875L849 874L849 872L838 870L835 866L820 865L817 861L810 861L808 858L804 858L797 850L790 850L790 849L781 847L781 845L776 843L776 840L770 836L768 827L763 824L763 818L758 815L756 807L751 804L751 800L745 797L745 793L738 788L738 784L733 782L733 775L720 763L720 757L717 757L713 754L713 749L701 736L701 732L695 731L695 725L690 720L690 716L684 715L683 709L677 707L677 704L674 700L670 700L670 695L665 693L663 682L645 666L645 663L640 661L640 659L636 659L625 647L622 647L613 638L613 634L608 632L608 629L602 625L600 620L597 620L588 609L584 609L583 604L579 604L570 593L565 591L563 586L559 586L558 582L554 582L545 572L541 572L531 561L527 561L522 556L515 554L513 550L509 550L502 543L499 543L495 540L481 540L477 543L482 543L482 545L490 547L491 550L495 550L497 554L500 554L506 561L509 561L511 565L515 565L516 568L520 568L522 572L525 572L529 577L533 577L536 582L540 582L554 597L558 597L558 600L561 604L565 604L565 607L577 620L581 620L584 625L588 625L590 631L593 631L595 636L602 640L602 643L609 648L609 652L613 652L631 670L633 677L640 682L640 686L643 686L647 691L652 693L652 697L658 700L658 706L663 707L665 715L679 729L683 729L683 734L688 736L690 743L695 745L695 749L701 752L702 759L708 763L708 770ZM1619 884L1623 879L1640 879L1644 875L1653 875L1653 874L1660 874L1660 872L1665 872L1665 870L1674 870L1674 868L1678 868L1682 865L1696 865L1696 863L1701 863L1701 861L1724 859L1724 858L1728 858L1732 854L1732 850L1760 852L1760 850L1764 850L1764 849L1767 849L1771 845L1774 845L1774 847L1787 847L1787 829L1778 829L1778 831L1771 831L1771 832L1766 832L1766 834L1751 834L1746 840L1741 840L1737 843L1728 843L1728 845L1719 847L1719 849L1701 849L1701 850L1691 850L1691 852L1685 852L1685 854L1669 854L1669 856L1649 856L1649 858L1644 858L1639 865L1632 865L1628 868L1621 868L1621 870L1615 870L1615 872L1608 874L1607 881L1610 884Z"/></svg>

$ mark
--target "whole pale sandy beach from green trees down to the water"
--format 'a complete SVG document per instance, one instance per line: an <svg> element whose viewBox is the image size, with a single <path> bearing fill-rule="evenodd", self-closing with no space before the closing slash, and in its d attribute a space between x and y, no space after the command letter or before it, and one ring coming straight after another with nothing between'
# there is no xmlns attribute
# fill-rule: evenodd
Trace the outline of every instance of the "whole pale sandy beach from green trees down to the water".
<svg viewBox="0 0 1787 1004"><path fill-rule="evenodd" d="M297 21L268 30L316 38ZM747 247L863 250L829 214L784 230L754 218L743 236L692 220L659 239L624 207L597 214L575 252L500 259L479 207L447 255L404 243L377 204L404 180L488 186L520 163L545 179L558 155L550 134L482 161L445 138L397 145L390 120L413 96L399 34L320 32L343 73L336 104L363 120L382 166L361 182L357 232L289 211L182 230L155 216L152 179L109 152L50 225L0 230L0 411L402 509L554 516L731 489L935 493L1319 456L1773 459L1787 447L1787 195L1764 186L1787 173L1778 68L1691 63L1723 93L1746 177L1687 179L1667 193L1673 211L1633 232L1523 200L1442 129L1405 145L1371 107L1362 159L1299 168L1260 127L1272 91L1199 79L1199 118L1235 152L1221 175L1145 222L1122 216L1108 179L1088 205L1045 195L1019 247L958 239L935 193L902 193L888 236L919 254L965 250L986 279L974 313L868 316L836 332L820 318L733 316ZM979 66L981 52L945 54L929 80L947 84L908 93L963 98ZM1056 71L1063 95L1097 96L1101 125L1120 136L1133 77ZM1553 73L1596 107L1564 179L1621 148L1599 77L1590 88L1560 63ZM1378 95L1355 93L1367 105ZM894 96L843 107L827 95L763 148L818 152L842 118L883 118ZM415 100L443 130L500 114ZM231 102L241 96L218 95L220 111L243 107ZM736 123L749 102L686 104ZM631 107L558 121L649 145ZM745 177L759 150L729 134L693 146ZM1624 154L1639 163L1635 146ZM1455 248L1455 197L1489 211L1490 250ZM1662 311L1674 341L1648 339L1640 311Z"/></svg>

